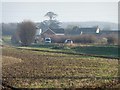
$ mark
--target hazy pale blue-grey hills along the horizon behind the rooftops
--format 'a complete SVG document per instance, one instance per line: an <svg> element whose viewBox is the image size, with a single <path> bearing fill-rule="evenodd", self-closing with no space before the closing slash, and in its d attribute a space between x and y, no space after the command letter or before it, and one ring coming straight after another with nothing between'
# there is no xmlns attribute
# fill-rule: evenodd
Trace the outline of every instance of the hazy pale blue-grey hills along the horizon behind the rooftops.
<svg viewBox="0 0 120 90"><path fill-rule="evenodd" d="M9 22L9 23L0 23L0 24L18 24L21 22ZM34 22L36 25L40 24L41 22ZM74 26L83 26L83 27L94 27L98 26L101 29L110 27L110 30L119 30L118 29L118 24L114 22L104 22L104 21L85 21L85 22L60 22L60 27L66 28L68 25L74 25Z"/></svg>

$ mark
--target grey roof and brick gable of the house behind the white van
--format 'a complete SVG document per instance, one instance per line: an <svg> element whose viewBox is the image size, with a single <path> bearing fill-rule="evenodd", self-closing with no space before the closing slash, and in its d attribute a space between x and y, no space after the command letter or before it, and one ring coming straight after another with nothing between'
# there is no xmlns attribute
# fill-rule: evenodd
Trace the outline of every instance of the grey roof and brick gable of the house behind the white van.
<svg viewBox="0 0 120 90"><path fill-rule="evenodd" d="M51 35L64 35L64 29L59 28L59 29L47 29L46 31L41 33L41 37L49 37Z"/></svg>

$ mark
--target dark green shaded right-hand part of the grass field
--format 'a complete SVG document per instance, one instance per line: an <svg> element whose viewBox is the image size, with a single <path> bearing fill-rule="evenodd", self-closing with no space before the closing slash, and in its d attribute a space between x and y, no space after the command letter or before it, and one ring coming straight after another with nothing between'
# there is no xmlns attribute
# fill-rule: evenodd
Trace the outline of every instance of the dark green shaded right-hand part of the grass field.
<svg viewBox="0 0 120 90"><path fill-rule="evenodd" d="M118 57L118 46L86 46L74 47L74 51L85 54Z"/></svg>

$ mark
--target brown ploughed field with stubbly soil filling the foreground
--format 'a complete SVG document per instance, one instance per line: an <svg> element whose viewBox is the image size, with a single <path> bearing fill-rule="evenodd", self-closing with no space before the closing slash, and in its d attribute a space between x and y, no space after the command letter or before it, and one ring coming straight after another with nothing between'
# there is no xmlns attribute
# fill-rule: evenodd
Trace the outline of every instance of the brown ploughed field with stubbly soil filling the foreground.
<svg viewBox="0 0 120 90"><path fill-rule="evenodd" d="M3 47L2 80L16 88L119 87L118 60Z"/></svg>

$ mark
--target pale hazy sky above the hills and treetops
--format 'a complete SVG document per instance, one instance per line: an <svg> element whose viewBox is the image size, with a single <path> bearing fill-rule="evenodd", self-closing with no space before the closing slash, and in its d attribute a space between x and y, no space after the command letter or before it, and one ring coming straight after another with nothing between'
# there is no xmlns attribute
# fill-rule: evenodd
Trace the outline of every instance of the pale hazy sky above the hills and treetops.
<svg viewBox="0 0 120 90"><path fill-rule="evenodd" d="M118 23L118 2L2 2L2 22L41 22L49 11L61 22Z"/></svg>

